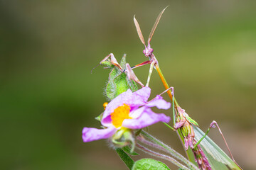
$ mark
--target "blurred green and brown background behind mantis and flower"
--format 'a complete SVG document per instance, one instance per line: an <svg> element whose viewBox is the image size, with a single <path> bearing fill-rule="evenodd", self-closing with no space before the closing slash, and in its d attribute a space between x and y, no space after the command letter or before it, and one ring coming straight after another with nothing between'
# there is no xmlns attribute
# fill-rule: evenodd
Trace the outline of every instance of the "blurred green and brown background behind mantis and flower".
<svg viewBox="0 0 256 170"><path fill-rule="evenodd" d="M254 0L0 1L1 169L127 169L105 140L82 142L106 101L109 70L90 70L110 52L144 62L133 16L147 39L168 5L151 46L178 102L203 130L218 121L240 166L256 169ZM144 84L148 69L134 70ZM156 72L150 86L164 91ZM149 131L184 153L163 124Z"/></svg>

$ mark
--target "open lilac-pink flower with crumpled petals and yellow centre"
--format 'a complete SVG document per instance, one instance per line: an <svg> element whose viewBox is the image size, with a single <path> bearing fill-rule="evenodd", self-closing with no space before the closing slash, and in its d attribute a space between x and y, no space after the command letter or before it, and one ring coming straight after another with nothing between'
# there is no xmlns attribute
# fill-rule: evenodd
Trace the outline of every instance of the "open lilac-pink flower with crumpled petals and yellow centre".
<svg viewBox="0 0 256 170"><path fill-rule="evenodd" d="M163 113L154 113L151 107L169 109L171 103L164 101L159 95L147 102L150 91L149 87L144 87L134 93L128 89L114 98L102 115L101 123L105 129L83 128L82 140L91 142L107 139L120 129L141 129L160 121L169 123L171 118Z"/></svg>

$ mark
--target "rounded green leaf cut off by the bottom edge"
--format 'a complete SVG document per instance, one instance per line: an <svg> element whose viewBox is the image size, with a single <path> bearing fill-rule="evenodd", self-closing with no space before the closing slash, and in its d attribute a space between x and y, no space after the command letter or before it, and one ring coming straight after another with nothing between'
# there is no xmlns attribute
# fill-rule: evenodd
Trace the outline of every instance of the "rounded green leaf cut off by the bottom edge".
<svg viewBox="0 0 256 170"><path fill-rule="evenodd" d="M134 163L132 170L170 170L163 162L156 161L155 159L139 159Z"/></svg>

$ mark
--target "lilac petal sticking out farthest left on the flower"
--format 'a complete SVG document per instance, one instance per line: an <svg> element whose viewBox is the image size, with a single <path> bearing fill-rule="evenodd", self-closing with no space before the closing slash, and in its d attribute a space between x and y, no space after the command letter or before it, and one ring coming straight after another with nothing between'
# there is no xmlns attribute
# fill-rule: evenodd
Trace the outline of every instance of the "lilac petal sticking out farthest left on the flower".
<svg viewBox="0 0 256 170"><path fill-rule="evenodd" d="M110 126L107 129L96 129L96 128L83 128L82 140L84 142L91 142L93 140L101 140L112 137L117 129Z"/></svg>

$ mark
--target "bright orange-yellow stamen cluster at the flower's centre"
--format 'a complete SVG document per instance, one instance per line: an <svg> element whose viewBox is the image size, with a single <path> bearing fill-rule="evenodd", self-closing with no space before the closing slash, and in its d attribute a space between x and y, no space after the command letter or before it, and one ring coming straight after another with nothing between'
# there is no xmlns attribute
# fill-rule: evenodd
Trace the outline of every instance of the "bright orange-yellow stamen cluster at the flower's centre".
<svg viewBox="0 0 256 170"><path fill-rule="evenodd" d="M131 108L127 104L123 104L122 106L114 109L114 112L110 115L112 124L115 128L119 128L120 126L122 126L122 122L124 121L124 119L131 119L131 117L129 117L130 110Z"/></svg>

